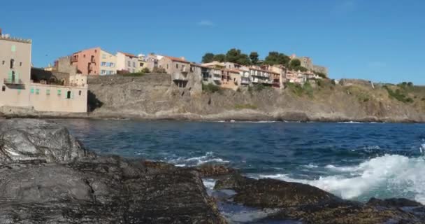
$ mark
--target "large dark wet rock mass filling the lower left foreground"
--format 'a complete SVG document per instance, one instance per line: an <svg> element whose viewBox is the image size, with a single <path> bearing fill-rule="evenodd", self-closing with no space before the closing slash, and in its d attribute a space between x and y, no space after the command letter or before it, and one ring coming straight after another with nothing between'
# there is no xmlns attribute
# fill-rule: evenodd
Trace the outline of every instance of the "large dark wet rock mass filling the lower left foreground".
<svg viewBox="0 0 425 224"><path fill-rule="evenodd" d="M0 223L225 223L194 170L94 156L55 124L5 122L2 153L22 156L1 155Z"/></svg>

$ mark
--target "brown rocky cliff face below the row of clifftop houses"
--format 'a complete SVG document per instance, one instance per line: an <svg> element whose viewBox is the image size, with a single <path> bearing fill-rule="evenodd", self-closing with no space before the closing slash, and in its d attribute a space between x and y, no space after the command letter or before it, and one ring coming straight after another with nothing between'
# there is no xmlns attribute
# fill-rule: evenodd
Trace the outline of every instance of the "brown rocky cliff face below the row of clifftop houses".
<svg viewBox="0 0 425 224"><path fill-rule="evenodd" d="M199 80L185 88L168 75L100 77L89 80L92 117L192 120L324 120L425 122L425 90L401 89L412 102L389 90L401 87L367 81L330 80L284 90L256 87L237 92L202 92ZM403 99L403 98L402 98Z"/></svg>

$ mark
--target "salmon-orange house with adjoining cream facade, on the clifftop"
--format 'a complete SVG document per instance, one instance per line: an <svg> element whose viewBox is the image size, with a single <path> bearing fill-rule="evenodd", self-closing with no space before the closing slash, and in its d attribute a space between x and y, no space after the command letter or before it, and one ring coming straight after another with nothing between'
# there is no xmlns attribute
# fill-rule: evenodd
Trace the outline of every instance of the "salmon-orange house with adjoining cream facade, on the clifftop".
<svg viewBox="0 0 425 224"><path fill-rule="evenodd" d="M117 73L117 57L101 48L90 48L73 53L71 65L78 73L89 76L105 76Z"/></svg>

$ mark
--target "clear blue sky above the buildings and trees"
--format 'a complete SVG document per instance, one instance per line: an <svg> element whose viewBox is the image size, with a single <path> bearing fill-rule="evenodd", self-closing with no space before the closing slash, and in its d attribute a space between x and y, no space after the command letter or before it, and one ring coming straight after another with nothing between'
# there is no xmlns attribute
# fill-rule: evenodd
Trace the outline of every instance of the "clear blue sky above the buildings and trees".
<svg viewBox="0 0 425 224"><path fill-rule="evenodd" d="M305 55L331 78L425 85L425 1L6 1L3 33L33 40L33 63L101 46L199 62L240 48Z"/></svg>

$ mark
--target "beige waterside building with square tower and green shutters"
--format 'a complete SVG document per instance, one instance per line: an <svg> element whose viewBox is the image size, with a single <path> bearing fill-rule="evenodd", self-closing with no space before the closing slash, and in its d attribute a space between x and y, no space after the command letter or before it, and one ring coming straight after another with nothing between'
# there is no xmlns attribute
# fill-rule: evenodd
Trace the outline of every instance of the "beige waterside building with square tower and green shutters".
<svg viewBox="0 0 425 224"><path fill-rule="evenodd" d="M31 79L31 44L31 40L3 35L0 29L0 107L87 112L87 83L66 85L71 83L69 76L53 78L44 69L38 71L45 78Z"/></svg>

